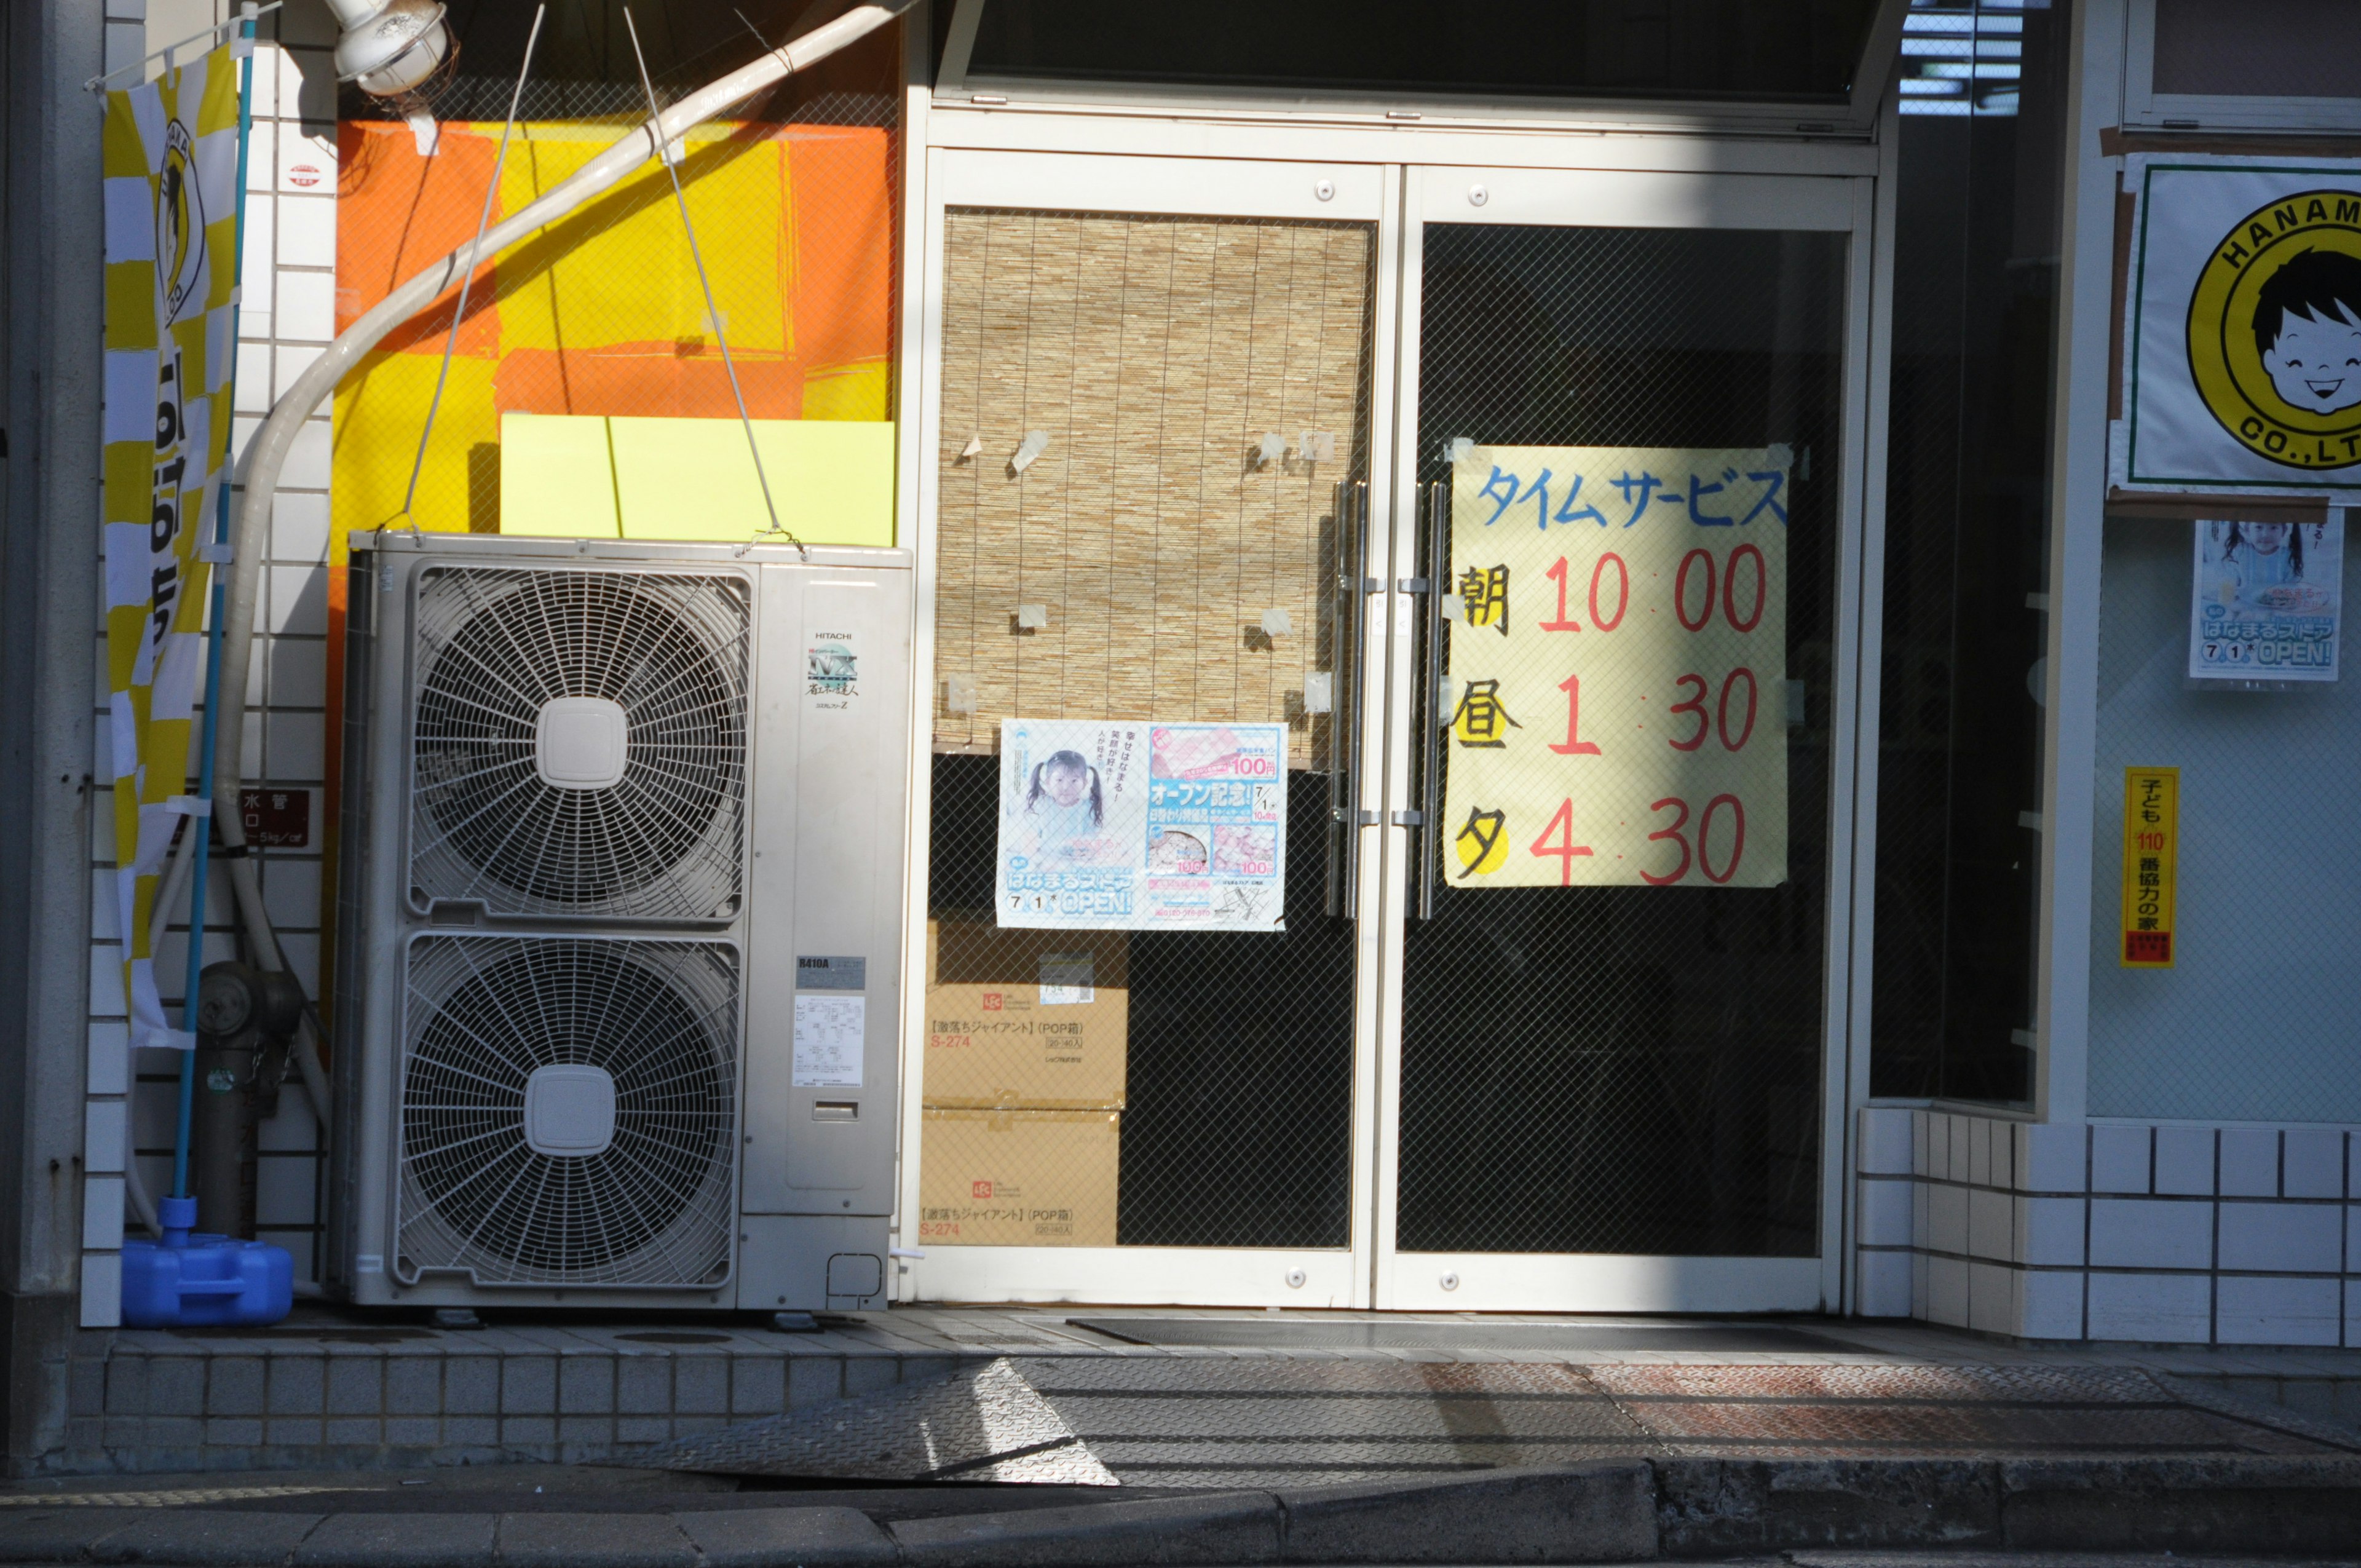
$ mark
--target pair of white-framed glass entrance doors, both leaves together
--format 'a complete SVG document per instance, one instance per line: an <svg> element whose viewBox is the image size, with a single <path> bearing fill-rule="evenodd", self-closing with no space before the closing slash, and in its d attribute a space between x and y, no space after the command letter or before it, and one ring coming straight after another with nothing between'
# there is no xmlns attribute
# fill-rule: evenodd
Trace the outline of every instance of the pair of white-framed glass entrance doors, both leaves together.
<svg viewBox="0 0 2361 1568"><path fill-rule="evenodd" d="M1837 1301L1868 184L930 153L902 1299Z"/></svg>

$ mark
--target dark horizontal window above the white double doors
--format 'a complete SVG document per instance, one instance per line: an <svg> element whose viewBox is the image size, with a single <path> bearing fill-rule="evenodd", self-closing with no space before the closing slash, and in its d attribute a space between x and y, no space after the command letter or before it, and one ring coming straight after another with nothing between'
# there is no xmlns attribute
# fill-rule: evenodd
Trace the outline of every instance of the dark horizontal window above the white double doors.
<svg viewBox="0 0 2361 1568"><path fill-rule="evenodd" d="M973 76L1842 102L1872 0L989 0Z"/></svg>

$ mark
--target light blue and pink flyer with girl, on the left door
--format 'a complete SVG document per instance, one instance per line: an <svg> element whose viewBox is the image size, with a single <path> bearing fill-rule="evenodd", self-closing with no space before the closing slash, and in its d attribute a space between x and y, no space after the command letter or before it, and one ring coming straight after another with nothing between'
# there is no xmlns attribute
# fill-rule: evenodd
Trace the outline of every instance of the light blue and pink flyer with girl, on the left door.
<svg viewBox="0 0 2361 1568"><path fill-rule="evenodd" d="M1001 926L1284 930L1287 727L1001 723Z"/></svg>

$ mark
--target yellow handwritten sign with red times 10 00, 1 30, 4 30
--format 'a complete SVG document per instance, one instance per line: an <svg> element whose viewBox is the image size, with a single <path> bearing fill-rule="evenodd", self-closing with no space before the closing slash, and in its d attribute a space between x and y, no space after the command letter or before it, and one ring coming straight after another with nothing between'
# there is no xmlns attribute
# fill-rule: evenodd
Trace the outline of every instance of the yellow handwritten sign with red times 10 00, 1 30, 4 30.
<svg viewBox="0 0 2361 1568"><path fill-rule="evenodd" d="M1452 468L1443 874L1787 881L1783 446L1473 446Z"/></svg>

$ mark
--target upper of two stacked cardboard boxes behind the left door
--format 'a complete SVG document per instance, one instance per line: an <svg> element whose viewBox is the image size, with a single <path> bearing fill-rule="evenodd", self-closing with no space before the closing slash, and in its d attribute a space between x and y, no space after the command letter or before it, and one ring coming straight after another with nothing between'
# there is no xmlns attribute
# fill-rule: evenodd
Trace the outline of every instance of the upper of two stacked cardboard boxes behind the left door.
<svg viewBox="0 0 2361 1568"><path fill-rule="evenodd" d="M944 1110L1121 1110L1131 937L926 923L926 1082Z"/></svg>

